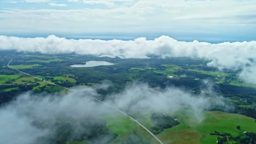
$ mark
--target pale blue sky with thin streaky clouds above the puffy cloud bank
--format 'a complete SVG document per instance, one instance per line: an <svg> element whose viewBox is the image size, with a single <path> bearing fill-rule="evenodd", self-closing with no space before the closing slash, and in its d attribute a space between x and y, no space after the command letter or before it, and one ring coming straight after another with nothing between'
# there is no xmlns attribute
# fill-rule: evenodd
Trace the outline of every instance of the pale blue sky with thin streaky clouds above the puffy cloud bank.
<svg viewBox="0 0 256 144"><path fill-rule="evenodd" d="M252 41L253 0L2 0L0 35Z"/></svg>

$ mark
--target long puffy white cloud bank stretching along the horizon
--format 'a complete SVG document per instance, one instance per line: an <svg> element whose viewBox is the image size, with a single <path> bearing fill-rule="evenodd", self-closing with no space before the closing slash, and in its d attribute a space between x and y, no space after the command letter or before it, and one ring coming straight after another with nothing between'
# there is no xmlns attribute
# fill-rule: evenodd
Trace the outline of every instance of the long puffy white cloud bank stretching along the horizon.
<svg viewBox="0 0 256 144"><path fill-rule="evenodd" d="M177 41L167 36L154 40L91 40L66 39L55 35L47 38L19 38L0 36L0 50L17 50L42 53L78 53L121 58L196 57L206 58L208 66L222 69L242 69L240 78L245 82L256 82L256 41L211 44L199 41ZM249 74L248 76L245 76Z"/></svg>

